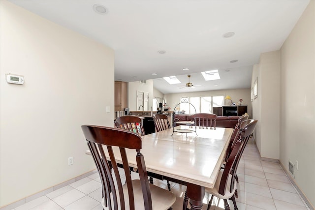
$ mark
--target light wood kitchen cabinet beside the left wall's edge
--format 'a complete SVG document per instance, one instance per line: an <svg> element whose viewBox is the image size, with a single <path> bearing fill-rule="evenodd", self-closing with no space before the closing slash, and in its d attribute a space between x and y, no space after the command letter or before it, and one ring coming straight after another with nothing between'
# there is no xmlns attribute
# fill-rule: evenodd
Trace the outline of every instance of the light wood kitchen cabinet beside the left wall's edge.
<svg viewBox="0 0 315 210"><path fill-rule="evenodd" d="M115 112L127 108L127 83L115 81Z"/></svg>

